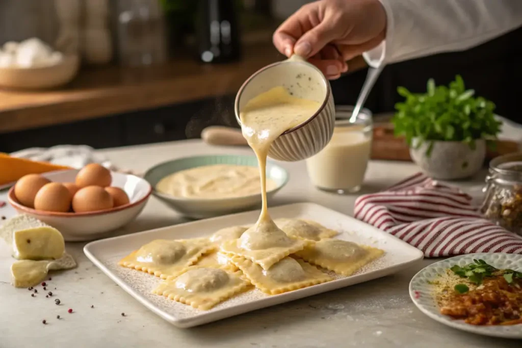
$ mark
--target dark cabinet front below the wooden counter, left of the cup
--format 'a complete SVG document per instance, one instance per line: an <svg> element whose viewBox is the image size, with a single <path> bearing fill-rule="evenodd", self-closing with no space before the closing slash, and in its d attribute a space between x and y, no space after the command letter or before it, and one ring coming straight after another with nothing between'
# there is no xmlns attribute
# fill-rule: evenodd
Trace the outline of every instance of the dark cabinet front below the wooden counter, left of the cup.
<svg viewBox="0 0 522 348"><path fill-rule="evenodd" d="M55 145L96 149L199 138L211 125L238 126L234 96L0 134L0 152Z"/></svg>

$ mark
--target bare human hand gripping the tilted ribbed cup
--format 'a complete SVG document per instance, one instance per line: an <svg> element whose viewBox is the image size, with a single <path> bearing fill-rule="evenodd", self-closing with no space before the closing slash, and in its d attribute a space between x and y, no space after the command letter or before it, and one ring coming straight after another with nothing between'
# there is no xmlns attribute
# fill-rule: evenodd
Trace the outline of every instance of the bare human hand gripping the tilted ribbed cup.
<svg viewBox="0 0 522 348"><path fill-rule="evenodd" d="M298 54L330 79L348 70L346 61L369 51L386 35L378 0L320 0L301 7L274 33L277 50Z"/></svg>

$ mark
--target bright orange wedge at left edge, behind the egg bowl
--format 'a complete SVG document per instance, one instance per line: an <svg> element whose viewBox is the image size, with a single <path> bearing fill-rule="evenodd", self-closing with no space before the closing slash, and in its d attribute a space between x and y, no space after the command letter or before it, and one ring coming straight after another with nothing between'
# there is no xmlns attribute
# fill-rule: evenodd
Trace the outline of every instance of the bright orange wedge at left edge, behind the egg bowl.
<svg viewBox="0 0 522 348"><path fill-rule="evenodd" d="M11 157L7 153L0 152L0 185L15 182L27 174L41 174L64 169L71 168L51 164L49 162L38 162L25 158Z"/></svg>

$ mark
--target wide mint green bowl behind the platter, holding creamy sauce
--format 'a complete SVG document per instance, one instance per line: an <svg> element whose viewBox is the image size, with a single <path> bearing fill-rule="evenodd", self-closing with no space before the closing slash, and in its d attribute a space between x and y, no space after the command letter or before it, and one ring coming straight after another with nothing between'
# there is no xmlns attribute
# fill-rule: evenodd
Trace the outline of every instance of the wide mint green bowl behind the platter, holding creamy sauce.
<svg viewBox="0 0 522 348"><path fill-rule="evenodd" d="M183 215L194 219L205 219L220 215L232 214L240 211L250 210L261 204L261 194L234 198L194 199L185 197L174 197L156 191L156 185L165 176L212 164L237 164L257 167L255 156L243 155L203 155L180 158L163 162L153 166L145 173L145 180L152 186L152 194L165 205L179 211ZM284 185L288 183L288 172L283 167L268 161L266 164L266 176L276 182L277 186L267 192L270 199Z"/></svg>

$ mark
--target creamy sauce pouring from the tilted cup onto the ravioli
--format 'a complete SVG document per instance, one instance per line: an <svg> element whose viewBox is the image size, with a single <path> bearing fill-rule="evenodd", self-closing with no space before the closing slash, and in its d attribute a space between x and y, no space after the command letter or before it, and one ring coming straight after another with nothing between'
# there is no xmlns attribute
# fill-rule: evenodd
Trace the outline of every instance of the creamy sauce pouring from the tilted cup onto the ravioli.
<svg viewBox="0 0 522 348"><path fill-rule="evenodd" d="M293 97L281 86L257 95L240 111L242 133L254 150L261 177L263 207L259 219L253 226L255 231L279 230L268 214L266 199L266 159L272 142L288 129L312 117L320 106L316 101ZM248 248L247 245L243 247Z"/></svg>

